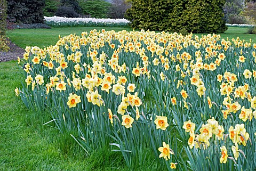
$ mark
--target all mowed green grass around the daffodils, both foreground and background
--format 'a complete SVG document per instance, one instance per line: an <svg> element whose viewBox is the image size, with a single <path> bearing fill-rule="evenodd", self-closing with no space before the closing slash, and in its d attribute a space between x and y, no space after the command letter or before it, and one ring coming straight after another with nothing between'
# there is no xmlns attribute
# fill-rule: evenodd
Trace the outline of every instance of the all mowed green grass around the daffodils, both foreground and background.
<svg viewBox="0 0 256 171"><path fill-rule="evenodd" d="M46 47L55 45L59 35L79 35L92 29L102 28L15 29L8 36L22 48ZM113 29L123 30L105 28ZM246 28L229 28L221 36L230 39L239 36L247 42L251 38L256 43L256 35L245 34L246 31ZM43 125L51 120L50 115L26 109L14 95L15 87L21 87L21 77L16 61L0 63L0 170L131 170L125 166L121 153L107 149L86 157L70 133L60 134L57 129ZM154 156L149 156L135 170L163 169L154 162Z"/></svg>

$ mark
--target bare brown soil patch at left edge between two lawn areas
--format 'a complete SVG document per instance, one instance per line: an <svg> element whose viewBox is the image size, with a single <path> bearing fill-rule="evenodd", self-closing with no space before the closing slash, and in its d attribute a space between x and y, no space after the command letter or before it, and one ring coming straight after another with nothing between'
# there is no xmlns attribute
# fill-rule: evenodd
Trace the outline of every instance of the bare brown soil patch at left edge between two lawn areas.
<svg viewBox="0 0 256 171"><path fill-rule="evenodd" d="M10 47L10 50L8 52L0 52L0 62L10 61L10 60L17 60L17 57L23 58L23 54L25 53L25 50L23 48L15 45L9 40L10 44L8 46Z"/></svg>

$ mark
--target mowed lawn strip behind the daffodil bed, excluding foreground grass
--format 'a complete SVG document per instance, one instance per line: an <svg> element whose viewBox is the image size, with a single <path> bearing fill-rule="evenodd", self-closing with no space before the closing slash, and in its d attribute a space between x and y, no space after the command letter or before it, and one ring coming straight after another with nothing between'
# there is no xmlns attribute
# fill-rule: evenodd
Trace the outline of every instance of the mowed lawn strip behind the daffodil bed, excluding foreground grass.
<svg viewBox="0 0 256 171"><path fill-rule="evenodd" d="M65 28L51 28L51 29L15 29L8 32L7 36L12 40L13 43L17 44L22 48L26 46L38 46L47 47L55 45L60 36L67 36L70 34L81 35L81 32L97 29L101 30L100 27L65 27ZM105 30L121 31L123 29L131 31L131 28L104 28ZM244 39L246 42L250 42L250 38L256 43L256 35L246 34L247 28L230 27L228 30L220 34L222 38L239 37ZM202 34L196 34L201 36ZM203 34L205 35L205 34Z"/></svg>

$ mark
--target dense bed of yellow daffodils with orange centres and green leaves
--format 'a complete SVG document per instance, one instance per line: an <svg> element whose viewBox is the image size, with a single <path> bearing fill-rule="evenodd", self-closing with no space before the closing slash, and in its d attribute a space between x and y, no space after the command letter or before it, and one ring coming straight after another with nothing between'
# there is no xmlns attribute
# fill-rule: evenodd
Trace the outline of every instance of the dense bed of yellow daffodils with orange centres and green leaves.
<svg viewBox="0 0 256 171"><path fill-rule="evenodd" d="M153 154L168 169L253 170L255 49L214 34L92 30L27 47L15 92L51 110L60 132L76 129L87 154L108 146L129 167Z"/></svg>

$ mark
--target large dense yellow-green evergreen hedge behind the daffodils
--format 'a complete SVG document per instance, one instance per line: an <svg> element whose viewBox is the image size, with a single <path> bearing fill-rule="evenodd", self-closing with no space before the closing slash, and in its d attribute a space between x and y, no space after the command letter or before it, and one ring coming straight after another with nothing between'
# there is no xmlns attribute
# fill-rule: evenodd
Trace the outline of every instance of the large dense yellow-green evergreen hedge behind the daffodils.
<svg viewBox="0 0 256 171"><path fill-rule="evenodd" d="M134 29L224 32L224 4L225 0L132 0L126 18Z"/></svg>

